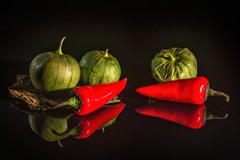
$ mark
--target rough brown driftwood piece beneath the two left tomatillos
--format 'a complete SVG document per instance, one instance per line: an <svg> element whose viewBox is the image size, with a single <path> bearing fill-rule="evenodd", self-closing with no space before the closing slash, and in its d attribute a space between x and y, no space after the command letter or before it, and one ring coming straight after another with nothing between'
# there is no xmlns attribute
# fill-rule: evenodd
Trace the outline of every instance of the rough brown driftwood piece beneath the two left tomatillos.
<svg viewBox="0 0 240 160"><path fill-rule="evenodd" d="M69 98L68 94L61 94L58 97L47 97L39 93L32 85L28 75L17 75L16 82L8 87L11 96L16 100L16 103L25 104L30 110L49 110L57 106L60 102ZM66 91L66 93L69 93ZM64 99L64 98L65 99ZM121 100L118 96L114 97L110 103L118 103Z"/></svg>

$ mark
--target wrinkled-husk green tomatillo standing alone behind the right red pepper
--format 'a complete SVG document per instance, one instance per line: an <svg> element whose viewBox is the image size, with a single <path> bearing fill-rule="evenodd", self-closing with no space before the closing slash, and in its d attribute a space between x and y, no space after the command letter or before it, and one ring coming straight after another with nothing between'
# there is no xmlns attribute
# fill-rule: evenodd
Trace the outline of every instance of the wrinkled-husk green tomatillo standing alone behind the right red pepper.
<svg viewBox="0 0 240 160"><path fill-rule="evenodd" d="M188 48L172 47L154 56L151 69L156 82L192 78L197 76L197 60Z"/></svg>

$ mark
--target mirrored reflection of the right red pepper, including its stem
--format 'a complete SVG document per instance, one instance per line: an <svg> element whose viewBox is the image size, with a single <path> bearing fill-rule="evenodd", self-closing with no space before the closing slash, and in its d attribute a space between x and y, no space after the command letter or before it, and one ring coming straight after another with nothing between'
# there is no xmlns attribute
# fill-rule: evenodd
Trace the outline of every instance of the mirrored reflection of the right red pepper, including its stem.
<svg viewBox="0 0 240 160"><path fill-rule="evenodd" d="M223 117L217 117L206 112L205 104L183 104L170 102L155 102L143 107L135 108L137 113L157 117L183 126L199 129L205 125L206 120L211 119L225 119L227 114Z"/></svg>

